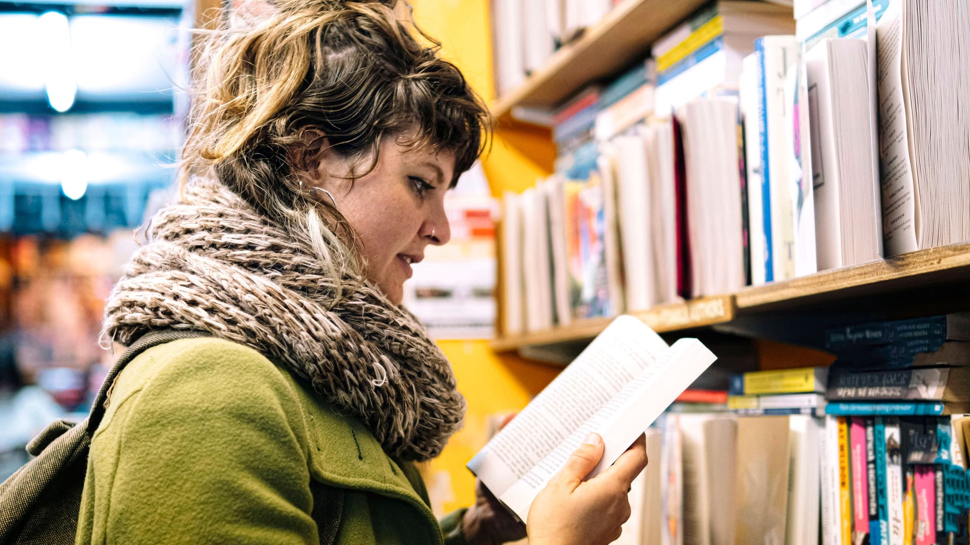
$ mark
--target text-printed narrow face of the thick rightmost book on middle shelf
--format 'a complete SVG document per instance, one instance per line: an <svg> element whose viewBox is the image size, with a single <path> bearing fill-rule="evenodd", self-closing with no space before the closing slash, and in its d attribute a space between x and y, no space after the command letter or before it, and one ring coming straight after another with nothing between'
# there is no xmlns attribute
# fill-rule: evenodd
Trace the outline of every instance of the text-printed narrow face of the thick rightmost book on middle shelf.
<svg viewBox="0 0 970 545"><path fill-rule="evenodd" d="M910 161L902 80L900 3L889 5L876 27L879 85L879 157L883 188L883 236L888 257L919 249L916 191Z"/></svg>

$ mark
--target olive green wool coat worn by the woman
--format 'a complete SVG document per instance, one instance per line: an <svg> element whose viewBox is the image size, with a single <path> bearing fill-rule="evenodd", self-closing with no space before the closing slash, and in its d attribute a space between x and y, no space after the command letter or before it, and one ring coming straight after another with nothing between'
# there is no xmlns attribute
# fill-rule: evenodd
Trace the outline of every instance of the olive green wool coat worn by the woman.
<svg viewBox="0 0 970 545"><path fill-rule="evenodd" d="M464 542L414 465L248 347L182 339L114 383L91 444L77 544L318 543L312 483L344 490L339 544Z"/></svg>

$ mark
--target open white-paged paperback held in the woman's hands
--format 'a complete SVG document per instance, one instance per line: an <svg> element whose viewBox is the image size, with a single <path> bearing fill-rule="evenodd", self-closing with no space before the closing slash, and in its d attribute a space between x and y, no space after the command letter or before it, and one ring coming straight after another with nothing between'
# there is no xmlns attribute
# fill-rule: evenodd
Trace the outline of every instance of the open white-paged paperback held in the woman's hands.
<svg viewBox="0 0 970 545"><path fill-rule="evenodd" d="M589 477L612 465L716 357L699 340L667 346L620 316L469 462L523 522L533 498L589 433L605 443Z"/></svg>

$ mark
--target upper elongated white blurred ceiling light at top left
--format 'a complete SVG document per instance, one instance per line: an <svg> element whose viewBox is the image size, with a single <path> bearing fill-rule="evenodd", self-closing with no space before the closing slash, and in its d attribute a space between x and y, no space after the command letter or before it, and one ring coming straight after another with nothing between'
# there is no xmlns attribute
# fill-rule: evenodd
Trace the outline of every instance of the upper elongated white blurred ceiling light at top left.
<svg viewBox="0 0 970 545"><path fill-rule="evenodd" d="M41 47L50 107L57 112L67 112L74 105L78 92L70 24L67 16L60 12L47 12L37 18L37 23L44 38Z"/></svg>

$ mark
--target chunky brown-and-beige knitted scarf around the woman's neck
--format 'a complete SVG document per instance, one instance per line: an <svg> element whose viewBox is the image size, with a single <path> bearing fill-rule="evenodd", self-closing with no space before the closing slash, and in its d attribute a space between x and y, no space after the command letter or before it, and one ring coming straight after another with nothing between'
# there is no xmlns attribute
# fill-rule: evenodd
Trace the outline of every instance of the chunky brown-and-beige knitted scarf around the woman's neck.
<svg viewBox="0 0 970 545"><path fill-rule="evenodd" d="M250 346L403 460L436 457L461 428L465 400L424 329L356 272L338 290L307 233L199 178L146 235L106 305L105 338L128 345L175 328Z"/></svg>

